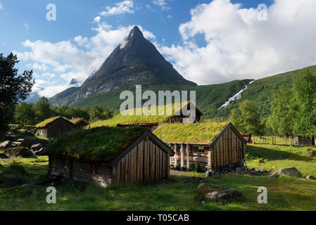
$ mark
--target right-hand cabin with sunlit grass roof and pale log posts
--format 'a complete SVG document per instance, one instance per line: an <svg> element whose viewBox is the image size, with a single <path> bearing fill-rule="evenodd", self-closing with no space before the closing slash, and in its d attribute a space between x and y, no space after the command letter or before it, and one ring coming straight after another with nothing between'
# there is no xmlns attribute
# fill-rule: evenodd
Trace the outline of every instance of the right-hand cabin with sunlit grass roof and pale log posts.
<svg viewBox="0 0 316 225"><path fill-rule="evenodd" d="M175 151L170 165L205 170L236 164L245 158L246 140L232 123L162 124L154 134Z"/></svg>

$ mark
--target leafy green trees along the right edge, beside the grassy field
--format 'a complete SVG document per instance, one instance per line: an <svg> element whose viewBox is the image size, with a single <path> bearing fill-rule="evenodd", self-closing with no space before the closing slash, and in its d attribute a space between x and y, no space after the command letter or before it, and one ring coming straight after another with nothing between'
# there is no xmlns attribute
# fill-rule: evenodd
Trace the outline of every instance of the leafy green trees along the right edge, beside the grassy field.
<svg viewBox="0 0 316 225"><path fill-rule="evenodd" d="M293 87L279 86L272 93L271 114L260 117L255 103L246 100L229 115L241 132L255 136L286 135L293 146L293 136L316 134L316 75L310 70L301 70L293 77Z"/></svg>

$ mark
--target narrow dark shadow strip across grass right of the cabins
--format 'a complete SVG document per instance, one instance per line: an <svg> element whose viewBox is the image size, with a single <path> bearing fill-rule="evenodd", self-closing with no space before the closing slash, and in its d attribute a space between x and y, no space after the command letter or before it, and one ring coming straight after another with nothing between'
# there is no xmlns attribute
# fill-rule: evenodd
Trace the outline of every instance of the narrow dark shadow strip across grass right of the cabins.
<svg viewBox="0 0 316 225"><path fill-rule="evenodd" d="M247 160L258 160L264 158L266 160L285 160L293 159L305 162L316 161L314 158L308 156L298 155L296 153L289 153L285 150L274 150L270 148L263 148L257 146L246 146Z"/></svg>

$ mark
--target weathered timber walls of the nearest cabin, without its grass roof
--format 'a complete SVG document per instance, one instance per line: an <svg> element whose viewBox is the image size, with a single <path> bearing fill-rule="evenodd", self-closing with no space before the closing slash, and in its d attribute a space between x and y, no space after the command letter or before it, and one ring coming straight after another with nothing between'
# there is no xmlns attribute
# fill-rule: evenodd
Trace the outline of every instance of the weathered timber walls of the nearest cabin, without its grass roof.
<svg viewBox="0 0 316 225"><path fill-rule="evenodd" d="M112 129L114 132L118 128ZM130 132L128 128L120 129ZM91 135L91 131L89 134ZM118 183L156 183L169 178L169 158L173 155L174 152L167 144L160 141L148 129L144 129L137 139L124 145L124 148L110 161L106 155L94 160L94 158L76 158L75 155L51 153L49 174L103 187Z"/></svg>

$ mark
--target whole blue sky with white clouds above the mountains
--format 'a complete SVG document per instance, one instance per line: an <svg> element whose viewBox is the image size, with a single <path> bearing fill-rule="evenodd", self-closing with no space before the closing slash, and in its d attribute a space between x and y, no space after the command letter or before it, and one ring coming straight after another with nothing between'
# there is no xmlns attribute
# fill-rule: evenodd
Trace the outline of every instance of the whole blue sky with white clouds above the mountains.
<svg viewBox="0 0 316 225"><path fill-rule="evenodd" d="M0 0L0 53L16 53L33 91L51 97L87 79L134 25L199 85L316 64L315 0Z"/></svg>

